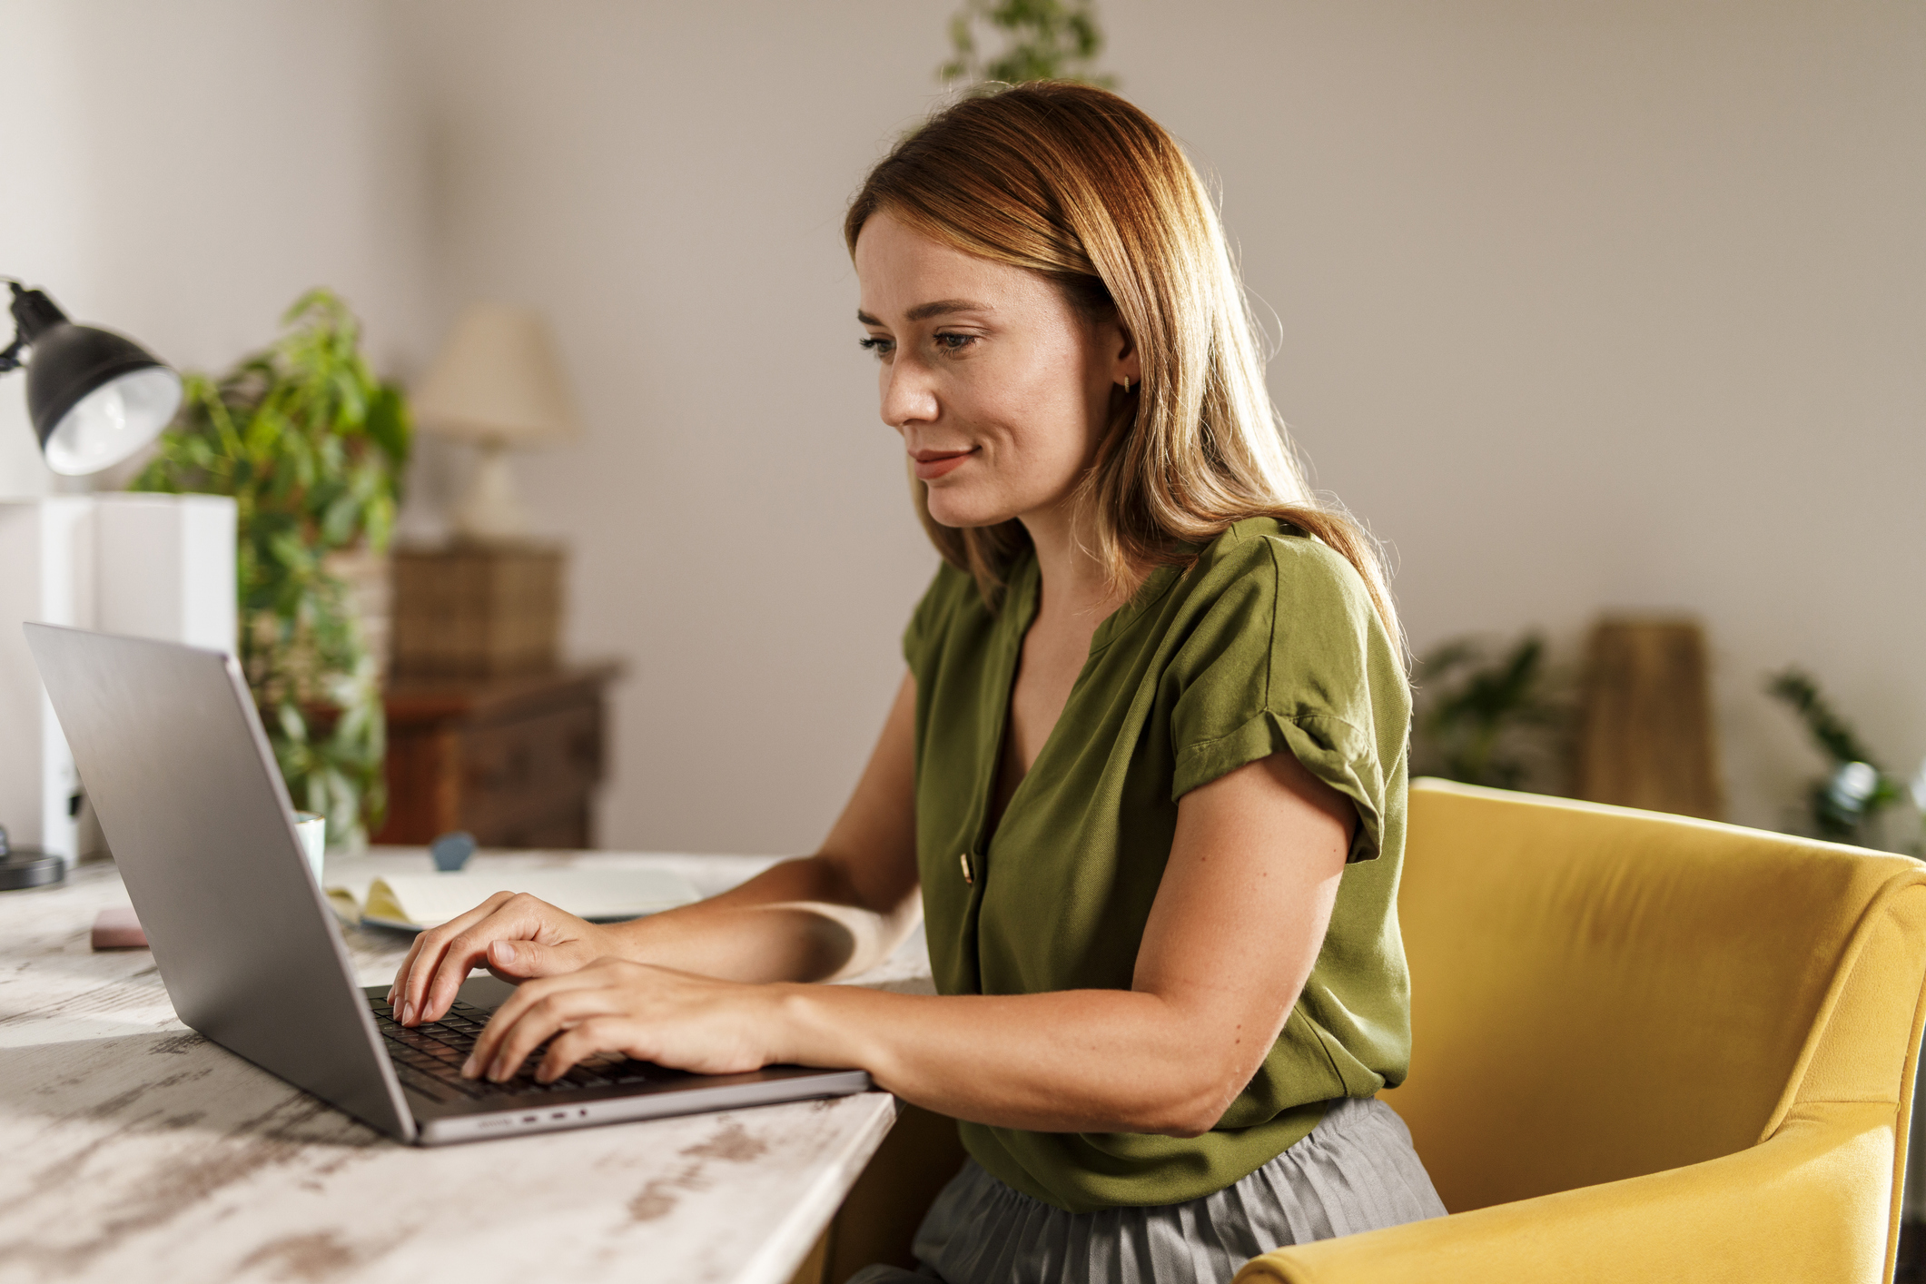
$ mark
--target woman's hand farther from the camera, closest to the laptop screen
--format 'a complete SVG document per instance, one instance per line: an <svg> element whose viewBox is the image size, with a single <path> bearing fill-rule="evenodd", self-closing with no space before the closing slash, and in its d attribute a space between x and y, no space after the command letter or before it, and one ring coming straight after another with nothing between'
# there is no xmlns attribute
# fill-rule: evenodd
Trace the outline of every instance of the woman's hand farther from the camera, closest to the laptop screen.
<svg viewBox="0 0 1926 1284"><path fill-rule="evenodd" d="M620 953L609 928L528 893L497 891L466 914L416 936L395 970L387 1001L395 1020L414 1026L445 1016L472 968L485 966L507 982L524 982Z"/></svg>

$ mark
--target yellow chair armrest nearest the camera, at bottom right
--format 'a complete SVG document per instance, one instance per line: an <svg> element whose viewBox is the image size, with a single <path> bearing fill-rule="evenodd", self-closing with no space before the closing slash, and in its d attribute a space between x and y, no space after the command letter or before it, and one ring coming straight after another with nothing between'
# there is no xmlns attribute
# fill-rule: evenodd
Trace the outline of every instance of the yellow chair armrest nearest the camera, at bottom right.
<svg viewBox="0 0 1926 1284"><path fill-rule="evenodd" d="M1895 1113L1805 1103L1737 1155L1277 1249L1235 1284L1872 1284L1891 1263Z"/></svg>

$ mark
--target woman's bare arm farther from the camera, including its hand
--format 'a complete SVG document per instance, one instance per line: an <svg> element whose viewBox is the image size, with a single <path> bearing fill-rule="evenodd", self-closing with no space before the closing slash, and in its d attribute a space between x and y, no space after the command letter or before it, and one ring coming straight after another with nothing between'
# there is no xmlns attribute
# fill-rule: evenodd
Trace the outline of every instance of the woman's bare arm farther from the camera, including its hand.
<svg viewBox="0 0 1926 1284"><path fill-rule="evenodd" d="M784 860L707 901L609 926L497 891L414 939L389 993L397 1018L412 1026L443 1016L478 966L516 982L607 957L738 982L836 980L874 966L923 909L915 705L917 683L905 676L869 766L817 855Z"/></svg>

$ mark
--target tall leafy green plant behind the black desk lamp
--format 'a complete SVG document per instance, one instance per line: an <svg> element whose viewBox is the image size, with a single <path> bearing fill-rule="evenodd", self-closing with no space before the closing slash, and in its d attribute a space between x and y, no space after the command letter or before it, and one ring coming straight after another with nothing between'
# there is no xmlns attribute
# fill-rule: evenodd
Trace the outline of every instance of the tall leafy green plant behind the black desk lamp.
<svg viewBox="0 0 1926 1284"><path fill-rule="evenodd" d="M360 325L308 291L281 337L225 375L189 373L137 491L231 495L239 510L241 668L295 807L360 847L387 799L377 664L329 554L387 547L408 408L374 377Z"/></svg>

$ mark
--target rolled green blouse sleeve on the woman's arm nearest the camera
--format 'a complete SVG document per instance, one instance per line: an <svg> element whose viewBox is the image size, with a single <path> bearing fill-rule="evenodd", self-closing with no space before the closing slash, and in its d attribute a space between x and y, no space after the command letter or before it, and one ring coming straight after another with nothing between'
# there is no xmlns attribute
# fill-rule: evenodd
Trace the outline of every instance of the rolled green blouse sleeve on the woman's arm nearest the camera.
<svg viewBox="0 0 1926 1284"><path fill-rule="evenodd" d="M1348 860L1377 857L1412 706L1364 579L1304 535L1242 539L1206 574L1171 674L1171 797L1288 749L1358 809Z"/></svg>

